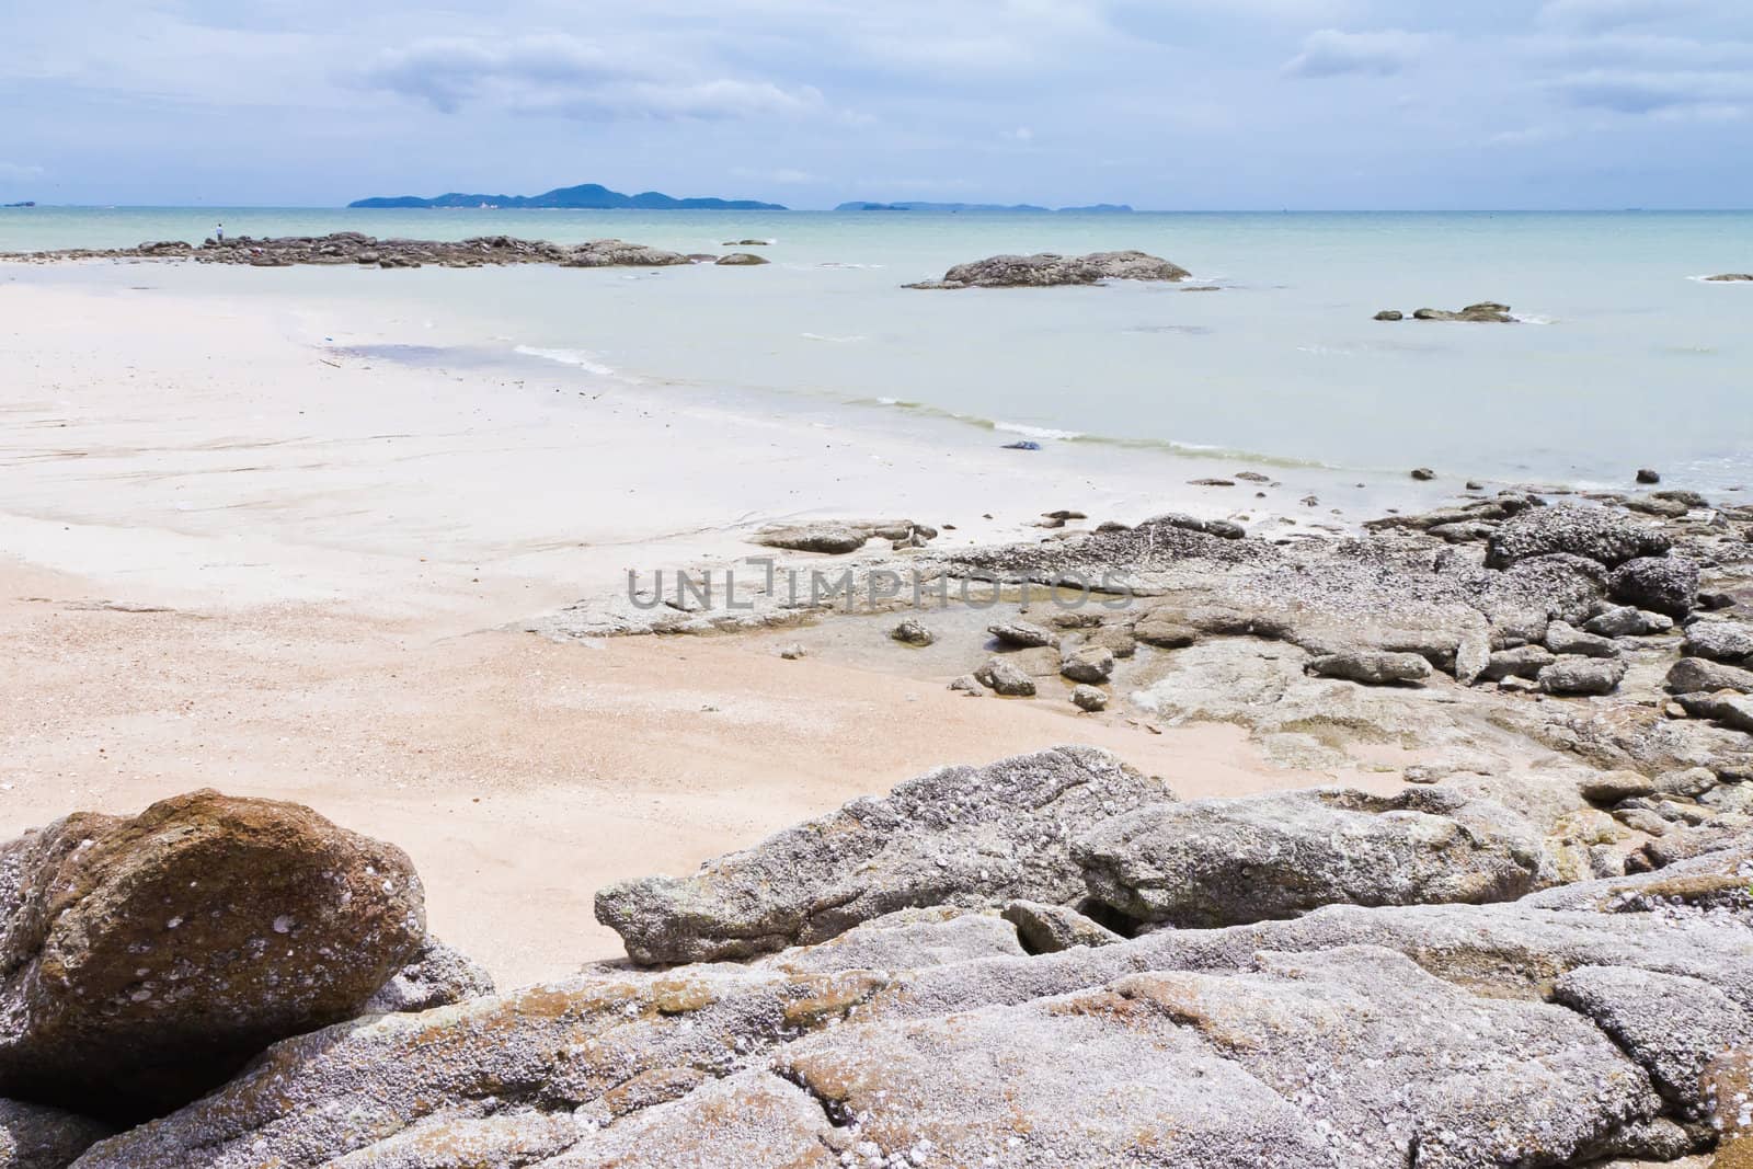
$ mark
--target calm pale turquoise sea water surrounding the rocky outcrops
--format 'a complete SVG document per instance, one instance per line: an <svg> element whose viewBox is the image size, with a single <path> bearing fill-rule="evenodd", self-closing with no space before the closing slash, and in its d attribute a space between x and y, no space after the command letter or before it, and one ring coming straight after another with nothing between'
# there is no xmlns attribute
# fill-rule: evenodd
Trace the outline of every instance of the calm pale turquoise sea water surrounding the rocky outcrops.
<svg viewBox="0 0 1753 1169"><path fill-rule="evenodd" d="M161 266L154 286L396 305L422 347L521 351L654 396L775 412L954 417L976 442L1218 449L1359 471L1629 485L1753 484L1749 212L1134 214L0 210L0 251L228 235L575 242L768 238L764 268L661 272ZM1183 286L927 293L994 252L1136 247ZM140 268L16 279L140 282ZM126 273L123 277L121 273ZM1513 305L1522 324L1383 324L1380 308ZM379 338L382 340L382 338ZM941 422L936 422L941 426ZM994 433L992 428L999 428ZM1076 435L1078 438L1069 438ZM1173 466L1164 464L1173 475Z"/></svg>

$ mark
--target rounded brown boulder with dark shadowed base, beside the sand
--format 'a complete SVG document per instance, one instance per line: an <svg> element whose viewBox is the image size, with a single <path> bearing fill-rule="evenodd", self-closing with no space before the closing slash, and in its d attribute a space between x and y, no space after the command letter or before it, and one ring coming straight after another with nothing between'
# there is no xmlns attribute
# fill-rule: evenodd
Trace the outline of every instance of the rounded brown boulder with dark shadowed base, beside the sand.
<svg viewBox="0 0 1753 1169"><path fill-rule="evenodd" d="M401 850L202 790L0 848L0 1092L135 1118L358 1015L424 943Z"/></svg>

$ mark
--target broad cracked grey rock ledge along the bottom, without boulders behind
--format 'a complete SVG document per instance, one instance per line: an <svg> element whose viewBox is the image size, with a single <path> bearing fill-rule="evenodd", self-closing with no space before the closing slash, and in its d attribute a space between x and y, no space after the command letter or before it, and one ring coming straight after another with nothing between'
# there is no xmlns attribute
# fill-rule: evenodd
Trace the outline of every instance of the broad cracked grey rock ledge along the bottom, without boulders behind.
<svg viewBox="0 0 1753 1169"><path fill-rule="evenodd" d="M582 974L289 1039L81 1165L1669 1162L1748 1129L1744 864L1040 955L920 952L969 915L913 917L915 967Z"/></svg>

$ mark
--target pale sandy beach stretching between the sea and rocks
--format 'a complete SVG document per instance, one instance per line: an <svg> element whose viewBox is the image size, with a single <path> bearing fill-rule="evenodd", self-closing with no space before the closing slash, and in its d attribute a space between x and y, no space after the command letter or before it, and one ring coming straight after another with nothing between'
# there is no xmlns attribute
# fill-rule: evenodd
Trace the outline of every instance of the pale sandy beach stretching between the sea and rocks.
<svg viewBox="0 0 1753 1169"><path fill-rule="evenodd" d="M203 785L307 803L405 847L435 931L521 983L619 953L601 883L943 762L1082 741L1189 794L1327 778L1234 727L968 701L770 638L510 631L628 568L745 556L763 521L913 515L973 543L1057 507L1164 510L1166 482L337 359L305 344L321 305L133 282L0 270L0 834Z"/></svg>

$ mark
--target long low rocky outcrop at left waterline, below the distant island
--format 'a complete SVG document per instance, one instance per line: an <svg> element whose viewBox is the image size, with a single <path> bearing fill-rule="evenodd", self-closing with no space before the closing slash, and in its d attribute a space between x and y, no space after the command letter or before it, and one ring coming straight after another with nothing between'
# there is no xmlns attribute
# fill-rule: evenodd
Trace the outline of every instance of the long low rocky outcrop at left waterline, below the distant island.
<svg viewBox="0 0 1753 1169"><path fill-rule="evenodd" d="M680 252L628 244L624 240L589 240L586 244L550 244L519 240L508 235L480 235L468 240L379 240L359 231L331 235L289 235L251 238L238 235L207 240L200 245L181 240L142 244L119 249L72 249L56 252L7 252L7 259L54 263L61 259L186 259L207 265L249 265L287 268L293 265L359 265L370 268L480 268L503 265L557 265L561 268L666 268L694 263ZM759 263L764 259L756 258ZM720 261L724 263L724 261ZM735 263L750 263L747 259Z"/></svg>

